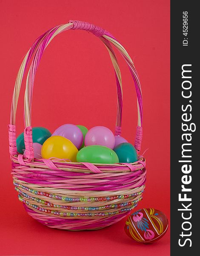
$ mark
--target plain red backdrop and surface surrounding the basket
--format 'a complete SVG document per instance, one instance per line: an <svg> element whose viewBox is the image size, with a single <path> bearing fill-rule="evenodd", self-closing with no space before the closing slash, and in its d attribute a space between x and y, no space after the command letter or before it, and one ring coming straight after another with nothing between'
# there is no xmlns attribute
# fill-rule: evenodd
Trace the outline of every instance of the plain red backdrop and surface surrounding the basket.
<svg viewBox="0 0 200 256"><path fill-rule="evenodd" d="M143 90L143 145L147 182L139 207L154 207L170 218L170 3L169 0L1 0L1 255L169 255L169 231L154 244L131 241L125 219L97 231L70 232L45 227L26 214L10 175L7 125L11 96L23 56L47 29L84 20L111 32L134 59ZM126 63L117 55L123 79L123 132L134 141L136 95ZM23 131L23 92L17 134ZM37 70L32 125L51 132L64 123L114 131L116 86L109 54L84 31L67 31L47 47ZM140 209L137 207L137 209Z"/></svg>

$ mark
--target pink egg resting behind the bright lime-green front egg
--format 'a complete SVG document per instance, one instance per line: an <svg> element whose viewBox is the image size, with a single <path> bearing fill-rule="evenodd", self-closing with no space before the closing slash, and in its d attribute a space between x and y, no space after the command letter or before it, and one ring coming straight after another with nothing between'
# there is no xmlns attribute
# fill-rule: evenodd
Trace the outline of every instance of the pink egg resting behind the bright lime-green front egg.
<svg viewBox="0 0 200 256"><path fill-rule="evenodd" d="M95 126L91 128L85 137L85 145L102 145L108 148L114 148L114 134L109 128L104 126Z"/></svg>

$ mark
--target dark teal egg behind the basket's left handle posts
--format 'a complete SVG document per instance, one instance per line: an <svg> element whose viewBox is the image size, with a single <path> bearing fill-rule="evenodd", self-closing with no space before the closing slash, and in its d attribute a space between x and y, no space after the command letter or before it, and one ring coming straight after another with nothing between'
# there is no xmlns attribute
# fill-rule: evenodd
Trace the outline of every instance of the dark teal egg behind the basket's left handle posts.
<svg viewBox="0 0 200 256"><path fill-rule="evenodd" d="M43 143L49 137L51 137L50 131L43 127L33 127L32 134L33 134L33 143L40 143L41 145L43 145ZM25 149L24 134L21 133L17 137L16 141L17 141L17 152L20 154L23 154L23 150Z"/></svg>

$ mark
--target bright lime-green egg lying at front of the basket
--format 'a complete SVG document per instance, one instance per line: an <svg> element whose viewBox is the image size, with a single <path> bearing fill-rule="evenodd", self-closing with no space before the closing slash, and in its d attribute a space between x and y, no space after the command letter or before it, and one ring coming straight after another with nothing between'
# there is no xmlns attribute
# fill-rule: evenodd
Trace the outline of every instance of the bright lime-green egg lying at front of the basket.
<svg viewBox="0 0 200 256"><path fill-rule="evenodd" d="M77 154L77 162L119 163L117 154L105 146L91 145L82 148Z"/></svg>

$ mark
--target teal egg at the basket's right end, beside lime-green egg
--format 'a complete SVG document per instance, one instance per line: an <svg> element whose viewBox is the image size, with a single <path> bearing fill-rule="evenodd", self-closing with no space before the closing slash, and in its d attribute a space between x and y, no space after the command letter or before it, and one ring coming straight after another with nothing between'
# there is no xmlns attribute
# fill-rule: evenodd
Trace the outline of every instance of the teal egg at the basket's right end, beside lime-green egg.
<svg viewBox="0 0 200 256"><path fill-rule="evenodd" d="M113 149L120 163L134 163L137 161L137 151L131 143L120 143Z"/></svg>

